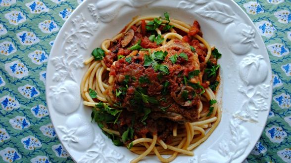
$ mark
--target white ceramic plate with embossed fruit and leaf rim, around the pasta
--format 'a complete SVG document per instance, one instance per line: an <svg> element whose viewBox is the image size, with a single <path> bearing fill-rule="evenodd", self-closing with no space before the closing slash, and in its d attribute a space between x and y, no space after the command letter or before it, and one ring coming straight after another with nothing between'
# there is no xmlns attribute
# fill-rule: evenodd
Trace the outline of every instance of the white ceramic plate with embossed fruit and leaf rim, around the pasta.
<svg viewBox="0 0 291 163"><path fill-rule="evenodd" d="M82 104L80 83L94 48L112 38L137 15L163 15L192 24L222 53L222 120L194 149L194 157L174 163L239 163L259 139L270 110L271 66L264 42L242 9L230 0L85 0L60 30L50 52L46 93L52 124L78 163L128 163L136 157L116 147L91 122L92 109ZM158 162L146 157L144 162Z"/></svg>

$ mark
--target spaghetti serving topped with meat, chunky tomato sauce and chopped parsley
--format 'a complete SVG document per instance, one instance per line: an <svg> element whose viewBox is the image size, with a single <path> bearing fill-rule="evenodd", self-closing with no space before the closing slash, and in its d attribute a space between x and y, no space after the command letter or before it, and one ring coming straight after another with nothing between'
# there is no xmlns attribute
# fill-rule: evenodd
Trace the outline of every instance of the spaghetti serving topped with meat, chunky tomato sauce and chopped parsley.
<svg viewBox="0 0 291 163"><path fill-rule="evenodd" d="M115 145L169 163L205 141L221 120L215 93L221 54L200 26L145 16L105 40L85 61L84 105ZM162 155L171 155L168 158Z"/></svg>

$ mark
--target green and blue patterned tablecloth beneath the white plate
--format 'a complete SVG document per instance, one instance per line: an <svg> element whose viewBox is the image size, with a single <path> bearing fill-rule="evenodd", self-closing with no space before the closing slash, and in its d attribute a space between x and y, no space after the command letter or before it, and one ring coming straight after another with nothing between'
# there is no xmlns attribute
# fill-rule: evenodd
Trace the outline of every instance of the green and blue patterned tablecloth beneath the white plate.
<svg viewBox="0 0 291 163"><path fill-rule="evenodd" d="M73 162L46 108L53 41L83 0L0 0L0 163ZM265 41L273 74L272 110L244 163L291 163L291 0L235 0Z"/></svg>

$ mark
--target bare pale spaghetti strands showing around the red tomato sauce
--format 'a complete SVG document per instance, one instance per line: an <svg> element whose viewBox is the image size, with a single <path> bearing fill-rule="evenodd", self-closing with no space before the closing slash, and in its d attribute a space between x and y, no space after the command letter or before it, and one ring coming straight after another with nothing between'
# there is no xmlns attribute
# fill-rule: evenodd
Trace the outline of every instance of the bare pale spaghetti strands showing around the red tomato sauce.
<svg viewBox="0 0 291 163"><path fill-rule="evenodd" d="M150 24L150 22L157 19L159 19L159 16L145 16L134 19L127 25L123 32L115 36L112 40L104 40L101 43L101 49L104 51L105 55L108 55L108 53L112 51L112 49L110 49L112 42L117 40L120 41L127 34L130 35L131 29L133 29L133 27L137 27L137 32L143 32L143 23ZM167 20L167 18L165 18L161 19L160 21L164 25L168 25L169 27L172 26L172 28L169 29L169 32L166 33L163 33L161 28L154 29L156 34L161 37L160 39L163 39L163 41L161 41L162 46L175 43L177 40L185 41L185 37L183 37L177 30L189 34L193 29L193 26L175 19ZM154 39L158 38L156 37ZM204 61L200 62L200 64L206 65L208 61L213 58L212 50L215 48L211 48L207 41L205 41L199 34L195 34L191 37L191 39L198 41L199 44L203 44L201 48L205 48L207 53L204 56ZM153 48L145 49L145 51L146 50L148 50L149 53L153 52ZM139 51L133 50L126 58L135 57L138 55L138 52ZM114 104L116 101L114 98L112 98L112 94L108 93L108 89L111 87L114 81L118 80L116 77L108 75L111 72L112 67L108 67L104 60L96 60L94 56L85 61L85 64L89 65L89 68L81 82L81 95L84 99L83 104L86 106L94 107L94 111L100 111L100 109L96 108L95 106L100 105L100 102L102 102L103 106L110 106L110 108L112 107L111 110L107 111L108 113L111 113L112 110L115 110ZM116 61L112 63L113 66L115 64ZM190 82L193 81L193 79L190 80ZM211 100L216 99L213 90L210 87L206 87L204 89L205 92L202 92L200 95L201 98L198 101L196 108L198 114L197 121L185 122L184 124L175 123L171 131L172 142L170 143L160 139L157 133L152 133L152 135L144 135L142 138L135 137L135 140L128 144L128 146L131 146L130 151L138 154L139 156L132 160L131 163L137 163L147 155L156 155L157 158L164 163L173 161L178 156L178 154L194 156L192 150L211 135L221 120L221 110L218 104L216 101L212 101L213 103L211 103ZM118 93L117 90L115 93ZM118 113L114 113L114 116L117 116ZM111 115L113 115L113 113L111 113ZM120 114L118 115L117 120L119 116ZM105 124L104 126L99 126L104 132L113 134L121 139L120 131L116 130L116 127L114 129L114 127L112 128L111 125L109 125L111 127L108 125ZM130 133L131 130L128 129L127 134L122 134L122 139L124 139L124 135L130 135ZM162 155L170 156L168 158L164 158Z"/></svg>

